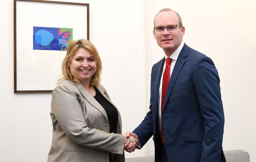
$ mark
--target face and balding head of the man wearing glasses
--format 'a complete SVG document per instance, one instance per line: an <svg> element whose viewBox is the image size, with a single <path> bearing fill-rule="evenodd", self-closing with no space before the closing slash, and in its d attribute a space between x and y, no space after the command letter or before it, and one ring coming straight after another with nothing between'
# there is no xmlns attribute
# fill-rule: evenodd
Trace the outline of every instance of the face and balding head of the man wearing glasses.
<svg viewBox="0 0 256 162"><path fill-rule="evenodd" d="M179 18L173 11L162 11L158 13L155 18L155 27L166 27L178 24ZM154 29L153 34L157 44L163 48L167 56L170 56L180 46L182 36L185 34L185 28L184 26L177 26L177 28L172 31L168 31L167 28L164 28L163 32Z"/></svg>

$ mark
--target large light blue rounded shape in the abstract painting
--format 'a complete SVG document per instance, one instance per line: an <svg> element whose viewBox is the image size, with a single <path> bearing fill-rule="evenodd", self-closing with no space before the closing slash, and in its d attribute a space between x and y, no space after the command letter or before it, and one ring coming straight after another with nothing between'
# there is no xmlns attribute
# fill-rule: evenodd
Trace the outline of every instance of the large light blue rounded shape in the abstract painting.
<svg viewBox="0 0 256 162"><path fill-rule="evenodd" d="M48 46L54 39L54 36L52 33L48 32L47 30L38 30L34 38L35 38L36 44L39 44L42 46Z"/></svg>

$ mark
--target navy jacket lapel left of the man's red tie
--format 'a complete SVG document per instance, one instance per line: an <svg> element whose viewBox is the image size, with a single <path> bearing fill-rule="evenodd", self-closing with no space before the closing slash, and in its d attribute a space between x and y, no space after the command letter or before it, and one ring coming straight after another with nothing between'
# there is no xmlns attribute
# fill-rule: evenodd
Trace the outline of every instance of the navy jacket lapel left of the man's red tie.
<svg viewBox="0 0 256 162"><path fill-rule="evenodd" d="M153 88L153 98L152 98L152 111L153 114L157 116L158 114L158 96L159 96L159 86L160 86L160 80L162 76L163 66L164 66L165 58L160 60L155 66L156 72L152 74L152 88Z"/></svg>

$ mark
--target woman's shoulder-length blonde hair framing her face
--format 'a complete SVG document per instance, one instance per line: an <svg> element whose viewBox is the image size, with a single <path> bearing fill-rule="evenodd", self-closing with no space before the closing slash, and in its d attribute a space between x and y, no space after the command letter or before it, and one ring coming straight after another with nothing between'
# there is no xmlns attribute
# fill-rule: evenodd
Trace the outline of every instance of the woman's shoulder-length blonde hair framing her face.
<svg viewBox="0 0 256 162"><path fill-rule="evenodd" d="M79 48L86 48L87 50L89 50L97 63L96 72L93 74L90 81L90 86L97 86L98 84L100 84L100 80L101 80L100 74L102 70L102 63L95 46L92 44L92 42L85 39L72 40L68 45L67 54L64 60L62 61L62 78L58 80L58 84L65 79L71 80L72 82L80 84L80 81L71 74L70 68L69 68L70 63Z"/></svg>

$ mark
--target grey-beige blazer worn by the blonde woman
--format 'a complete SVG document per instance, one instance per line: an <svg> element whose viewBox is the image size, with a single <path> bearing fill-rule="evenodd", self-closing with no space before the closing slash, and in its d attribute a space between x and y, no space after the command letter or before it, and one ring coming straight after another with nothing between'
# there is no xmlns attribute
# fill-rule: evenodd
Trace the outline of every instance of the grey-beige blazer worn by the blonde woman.
<svg viewBox="0 0 256 162"><path fill-rule="evenodd" d="M96 88L113 104L102 85ZM119 134L109 133L104 108L81 84L70 80L54 88L51 107L53 134L47 162L109 162L109 152L118 154L118 162L124 162L125 137L119 111Z"/></svg>

